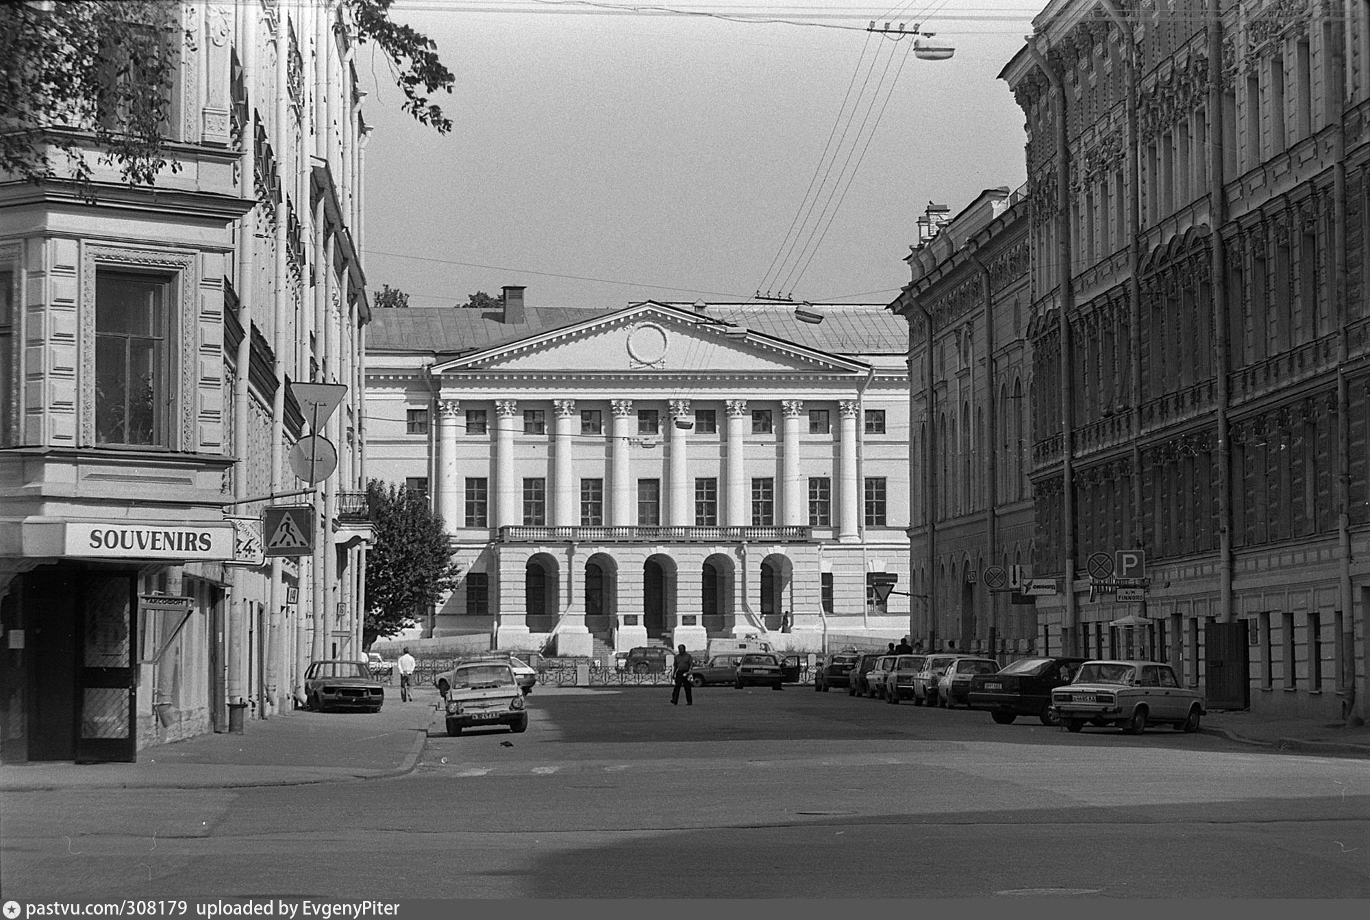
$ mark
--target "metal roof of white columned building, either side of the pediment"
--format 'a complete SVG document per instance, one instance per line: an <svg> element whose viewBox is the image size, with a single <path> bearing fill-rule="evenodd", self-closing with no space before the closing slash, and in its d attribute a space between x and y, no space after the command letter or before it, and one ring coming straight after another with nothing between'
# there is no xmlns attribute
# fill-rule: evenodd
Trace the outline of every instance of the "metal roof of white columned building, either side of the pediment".
<svg viewBox="0 0 1370 920"><path fill-rule="evenodd" d="M663 303L664 301L653 301ZM629 304L630 307L638 304ZM886 304L666 304L708 319L744 326L796 345L830 355L907 355L908 323ZM821 315L823 322L804 322L796 308ZM506 323L500 311L466 307L378 307L366 331L369 352L419 352L466 355L510 345L608 316L623 307L527 307L522 323Z"/></svg>

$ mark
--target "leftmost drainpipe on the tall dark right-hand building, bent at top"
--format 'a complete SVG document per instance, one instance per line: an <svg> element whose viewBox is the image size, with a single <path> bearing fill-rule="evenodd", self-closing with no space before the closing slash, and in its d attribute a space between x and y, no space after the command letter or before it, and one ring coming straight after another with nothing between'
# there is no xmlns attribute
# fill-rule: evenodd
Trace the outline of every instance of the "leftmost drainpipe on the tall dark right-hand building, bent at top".
<svg viewBox="0 0 1370 920"><path fill-rule="evenodd" d="M1070 350L1070 314L1075 307L1075 293L1071 285L1071 245L1070 245L1070 138L1066 126L1066 88L1060 82L1060 75L1052 68L1047 56L1043 55L1034 41L1028 42L1028 52L1041 67L1043 74L1056 93L1056 256L1060 263L1059 288L1059 316L1058 326L1060 334L1060 494L1062 494L1062 530L1066 570L1066 609L1063 615L1064 628L1069 635L1069 653L1080 653L1080 605L1075 600L1075 463L1074 442L1071 438L1074 427L1074 368L1071 366Z"/></svg>

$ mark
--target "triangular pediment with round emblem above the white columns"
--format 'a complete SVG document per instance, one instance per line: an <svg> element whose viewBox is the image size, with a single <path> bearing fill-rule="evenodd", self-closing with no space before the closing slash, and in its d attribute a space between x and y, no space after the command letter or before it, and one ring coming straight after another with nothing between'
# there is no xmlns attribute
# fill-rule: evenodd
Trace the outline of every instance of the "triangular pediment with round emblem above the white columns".
<svg viewBox="0 0 1370 920"><path fill-rule="evenodd" d="M858 374L866 364L648 301L549 333L464 355L437 374Z"/></svg>

